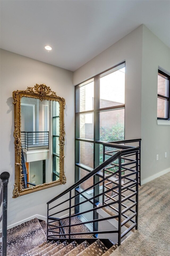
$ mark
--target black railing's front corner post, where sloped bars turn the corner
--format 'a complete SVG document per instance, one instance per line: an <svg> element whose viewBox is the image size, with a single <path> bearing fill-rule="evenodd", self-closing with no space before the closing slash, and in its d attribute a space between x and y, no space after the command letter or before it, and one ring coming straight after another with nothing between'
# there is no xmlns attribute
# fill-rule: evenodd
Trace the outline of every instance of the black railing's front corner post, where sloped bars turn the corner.
<svg viewBox="0 0 170 256"><path fill-rule="evenodd" d="M121 196L121 186L122 186L122 175L121 175L121 156L119 157L119 195L118 195L118 209L119 209L119 212L118 212L118 246L121 245L121 217L122 217L122 205L121 205L121 201L122 201L122 196Z"/></svg>

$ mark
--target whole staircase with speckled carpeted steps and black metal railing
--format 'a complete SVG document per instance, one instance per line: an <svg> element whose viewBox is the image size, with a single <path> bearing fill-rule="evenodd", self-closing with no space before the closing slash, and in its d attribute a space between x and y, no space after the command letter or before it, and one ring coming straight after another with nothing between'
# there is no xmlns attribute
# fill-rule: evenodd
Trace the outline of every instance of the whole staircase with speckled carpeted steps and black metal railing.
<svg viewBox="0 0 170 256"><path fill-rule="evenodd" d="M9 229L7 254L2 255L111 255L138 228L140 148L123 143L140 145L140 141L104 142L104 162L47 202L47 223L33 219ZM81 184L91 178L93 185L81 189ZM92 195L88 191L93 191ZM100 217L101 211L105 217ZM84 217L87 213L92 213L91 220ZM110 229L101 228L103 221L108 221ZM114 227L112 221L117 223ZM113 234L114 242L110 239Z"/></svg>

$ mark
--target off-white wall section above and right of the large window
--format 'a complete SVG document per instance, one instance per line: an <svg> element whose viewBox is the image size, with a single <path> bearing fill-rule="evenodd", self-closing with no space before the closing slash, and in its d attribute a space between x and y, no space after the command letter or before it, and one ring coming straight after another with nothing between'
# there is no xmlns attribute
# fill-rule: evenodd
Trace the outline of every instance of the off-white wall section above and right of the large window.
<svg viewBox="0 0 170 256"><path fill-rule="evenodd" d="M74 85L126 61L125 67L125 139L141 138L141 25L117 43L74 72Z"/></svg>

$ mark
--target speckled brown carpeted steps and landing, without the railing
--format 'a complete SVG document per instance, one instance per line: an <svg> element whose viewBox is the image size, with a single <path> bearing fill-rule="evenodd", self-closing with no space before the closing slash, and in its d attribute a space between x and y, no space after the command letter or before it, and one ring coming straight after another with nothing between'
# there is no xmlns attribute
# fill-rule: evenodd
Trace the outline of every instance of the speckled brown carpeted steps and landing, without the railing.
<svg viewBox="0 0 170 256"><path fill-rule="evenodd" d="M76 218L76 222L81 222ZM88 234L88 229L82 225L81 230ZM108 239L95 239L86 235L82 242L76 237L70 243L64 238L61 241L46 240L47 224L37 218L27 221L7 231L7 255L8 256L75 256L75 255L110 255L116 248ZM74 228L76 231L76 227ZM52 232L51 232L52 233ZM85 236L84 236L85 237ZM1 248L0 248L1 253Z"/></svg>

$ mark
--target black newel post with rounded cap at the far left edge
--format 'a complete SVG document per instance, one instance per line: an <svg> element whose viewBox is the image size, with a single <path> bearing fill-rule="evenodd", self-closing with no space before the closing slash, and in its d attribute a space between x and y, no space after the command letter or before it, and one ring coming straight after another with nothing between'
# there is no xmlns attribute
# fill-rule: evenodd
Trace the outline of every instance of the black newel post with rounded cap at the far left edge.
<svg viewBox="0 0 170 256"><path fill-rule="evenodd" d="M2 180L2 256L7 252L7 186L10 174L4 171L0 175Z"/></svg>

